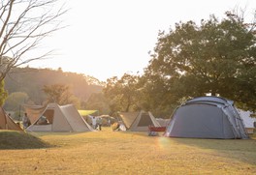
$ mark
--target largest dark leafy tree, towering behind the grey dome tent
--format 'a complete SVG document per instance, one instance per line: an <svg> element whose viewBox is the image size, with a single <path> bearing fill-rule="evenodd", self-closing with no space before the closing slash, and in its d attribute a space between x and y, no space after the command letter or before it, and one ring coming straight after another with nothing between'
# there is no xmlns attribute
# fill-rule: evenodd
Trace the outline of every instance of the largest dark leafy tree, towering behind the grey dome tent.
<svg viewBox="0 0 256 175"><path fill-rule="evenodd" d="M156 98L163 105L210 93L255 108L255 26L227 13L221 21L211 15L201 26L179 22L168 34L160 32L144 72L148 93L162 87Z"/></svg>

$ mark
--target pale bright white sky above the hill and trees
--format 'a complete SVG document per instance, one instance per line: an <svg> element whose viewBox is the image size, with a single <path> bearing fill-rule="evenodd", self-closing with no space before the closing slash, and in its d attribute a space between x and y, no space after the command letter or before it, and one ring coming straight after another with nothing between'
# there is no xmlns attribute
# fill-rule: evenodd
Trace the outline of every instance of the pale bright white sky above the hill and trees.
<svg viewBox="0 0 256 175"><path fill-rule="evenodd" d="M44 42L54 54L29 66L106 81L144 73L159 31L168 32L179 21L198 23L209 15L221 19L234 9L245 10L250 21L256 0L67 0L65 6L70 9L63 17L68 27Z"/></svg>

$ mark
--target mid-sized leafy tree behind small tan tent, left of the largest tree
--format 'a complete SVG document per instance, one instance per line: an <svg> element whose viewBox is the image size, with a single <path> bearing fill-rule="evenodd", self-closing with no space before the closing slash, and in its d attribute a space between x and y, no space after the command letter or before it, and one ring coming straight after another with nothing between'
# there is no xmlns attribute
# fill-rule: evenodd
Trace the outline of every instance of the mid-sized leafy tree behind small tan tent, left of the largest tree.
<svg viewBox="0 0 256 175"><path fill-rule="evenodd" d="M120 79L113 76L107 80L103 93L110 102L112 112L136 110L139 107L136 101L138 81L138 76L128 73L125 73Z"/></svg>

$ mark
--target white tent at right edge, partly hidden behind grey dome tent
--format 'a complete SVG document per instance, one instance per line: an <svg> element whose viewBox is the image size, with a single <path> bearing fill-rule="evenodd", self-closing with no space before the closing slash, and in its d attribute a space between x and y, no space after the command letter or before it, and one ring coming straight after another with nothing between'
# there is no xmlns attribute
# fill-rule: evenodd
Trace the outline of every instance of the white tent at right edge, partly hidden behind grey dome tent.
<svg viewBox="0 0 256 175"><path fill-rule="evenodd" d="M241 119L244 123L245 130L247 131L247 133L253 133L254 122L256 122L256 118L250 117L253 114L253 112L244 111L240 109L239 109L239 112L240 112Z"/></svg>

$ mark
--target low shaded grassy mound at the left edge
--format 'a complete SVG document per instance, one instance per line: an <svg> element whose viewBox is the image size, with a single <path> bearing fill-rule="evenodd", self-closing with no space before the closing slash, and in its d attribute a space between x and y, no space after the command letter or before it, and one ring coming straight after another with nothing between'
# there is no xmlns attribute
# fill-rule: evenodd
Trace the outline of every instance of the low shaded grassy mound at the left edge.
<svg viewBox="0 0 256 175"><path fill-rule="evenodd" d="M7 149L40 149L53 145L23 131L0 131L0 150Z"/></svg>

